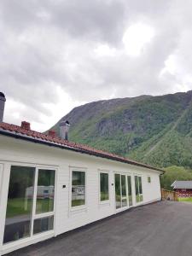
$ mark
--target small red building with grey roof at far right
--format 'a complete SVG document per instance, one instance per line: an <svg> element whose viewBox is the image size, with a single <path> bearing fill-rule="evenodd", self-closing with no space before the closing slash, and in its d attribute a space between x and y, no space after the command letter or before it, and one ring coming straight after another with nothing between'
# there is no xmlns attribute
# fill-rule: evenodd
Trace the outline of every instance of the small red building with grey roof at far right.
<svg viewBox="0 0 192 256"><path fill-rule="evenodd" d="M171 187L179 197L192 197L192 181L174 181Z"/></svg>

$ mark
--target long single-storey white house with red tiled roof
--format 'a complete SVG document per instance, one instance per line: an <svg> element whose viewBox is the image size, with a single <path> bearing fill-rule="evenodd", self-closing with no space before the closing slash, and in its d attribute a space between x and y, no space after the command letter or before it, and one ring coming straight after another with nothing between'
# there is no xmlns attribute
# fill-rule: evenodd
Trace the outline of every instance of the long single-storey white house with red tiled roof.
<svg viewBox="0 0 192 256"><path fill-rule="evenodd" d="M160 201L163 171L0 123L0 255Z"/></svg>

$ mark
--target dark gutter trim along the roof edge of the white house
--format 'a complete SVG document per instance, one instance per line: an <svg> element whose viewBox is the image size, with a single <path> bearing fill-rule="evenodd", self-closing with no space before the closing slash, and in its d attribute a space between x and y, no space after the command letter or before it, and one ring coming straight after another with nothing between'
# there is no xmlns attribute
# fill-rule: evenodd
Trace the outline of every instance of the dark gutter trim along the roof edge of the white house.
<svg viewBox="0 0 192 256"><path fill-rule="evenodd" d="M108 159L108 160L115 160L115 161L119 161L119 162L122 162L122 163L129 164L131 166L140 166L140 167L144 167L144 168L147 168L149 170L154 170L154 171L157 171L157 172L162 172L162 173L165 172L165 171L163 171L159 168L144 165L142 163L138 163L138 162L131 161L131 160L128 160L128 159L122 159L122 158L119 158L118 156L115 156L115 155L112 156L112 155L107 155L107 154L104 154L104 153L102 154L101 152L94 152L94 151L90 151L90 150L85 150L83 148L73 148L73 147L69 147L69 146L66 146L66 145L63 145L63 144L59 144L59 143L51 143L51 142L48 142L48 141L44 141L42 139L23 136L21 134L18 134L18 133L15 133L15 132L10 132L10 131L0 130L0 134L2 134L4 136L8 136L8 137L15 137L17 139L25 140L25 141L32 142L32 143L40 143L40 144L44 144L44 145L47 145L47 146L50 146L50 147L67 149L67 150L79 152L79 153L82 153L82 154L94 155L94 156L105 158L105 159Z"/></svg>

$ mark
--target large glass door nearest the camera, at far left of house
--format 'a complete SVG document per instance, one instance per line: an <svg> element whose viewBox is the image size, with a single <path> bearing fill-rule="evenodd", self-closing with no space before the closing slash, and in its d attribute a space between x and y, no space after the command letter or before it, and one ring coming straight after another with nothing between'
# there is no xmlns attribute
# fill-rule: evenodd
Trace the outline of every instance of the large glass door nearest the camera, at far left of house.
<svg viewBox="0 0 192 256"><path fill-rule="evenodd" d="M11 166L3 243L53 230L55 170Z"/></svg>

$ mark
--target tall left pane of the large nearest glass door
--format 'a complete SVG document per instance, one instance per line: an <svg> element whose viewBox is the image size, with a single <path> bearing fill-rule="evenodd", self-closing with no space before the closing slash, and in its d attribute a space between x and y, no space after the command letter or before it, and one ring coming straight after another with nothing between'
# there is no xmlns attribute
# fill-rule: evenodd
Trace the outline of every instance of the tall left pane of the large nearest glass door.
<svg viewBox="0 0 192 256"><path fill-rule="evenodd" d="M11 166L3 243L30 236L35 168Z"/></svg>

